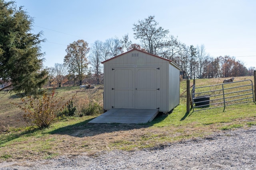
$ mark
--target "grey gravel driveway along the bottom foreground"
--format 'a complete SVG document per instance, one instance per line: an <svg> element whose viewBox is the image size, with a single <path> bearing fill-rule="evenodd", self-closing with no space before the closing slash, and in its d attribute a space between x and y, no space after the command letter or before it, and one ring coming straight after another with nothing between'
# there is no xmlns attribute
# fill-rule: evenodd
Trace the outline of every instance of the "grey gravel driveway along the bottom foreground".
<svg viewBox="0 0 256 170"><path fill-rule="evenodd" d="M151 150L104 152L96 158L85 153L51 160L2 162L0 170L255 170L255 133L253 126Z"/></svg>

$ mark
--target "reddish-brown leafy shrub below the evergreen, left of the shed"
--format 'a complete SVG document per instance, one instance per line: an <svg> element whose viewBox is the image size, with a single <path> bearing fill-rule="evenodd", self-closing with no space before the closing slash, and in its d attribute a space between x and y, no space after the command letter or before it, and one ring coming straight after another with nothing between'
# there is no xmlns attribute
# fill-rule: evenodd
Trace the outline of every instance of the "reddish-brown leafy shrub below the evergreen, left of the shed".
<svg viewBox="0 0 256 170"><path fill-rule="evenodd" d="M36 99L28 96L28 101L21 98L24 105L15 105L25 111L23 117L27 123L34 123L39 128L45 128L51 125L51 123L57 117L57 113L62 111L65 106L70 104L74 96L71 100L68 100L68 102L62 104L64 97L57 98L54 89L51 93L44 92L42 98Z"/></svg>

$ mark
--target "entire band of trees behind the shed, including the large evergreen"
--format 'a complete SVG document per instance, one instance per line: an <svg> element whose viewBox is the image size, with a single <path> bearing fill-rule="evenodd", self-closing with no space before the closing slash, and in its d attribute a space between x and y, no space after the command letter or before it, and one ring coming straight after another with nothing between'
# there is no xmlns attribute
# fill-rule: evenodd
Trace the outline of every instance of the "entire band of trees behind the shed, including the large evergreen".
<svg viewBox="0 0 256 170"><path fill-rule="evenodd" d="M133 43L128 34L96 40L90 47L79 39L67 46L63 63L44 68L40 43L45 39L40 38L42 32L31 33L32 24L33 19L22 7L17 8L14 1L0 0L0 80L11 81L16 92L35 93L46 82L50 86L102 83L101 62L134 48L174 61L182 68L184 78L246 76L255 70L247 69L234 57L211 57L204 45L180 42L168 29L158 26L154 16L133 24L134 39L139 43Z"/></svg>

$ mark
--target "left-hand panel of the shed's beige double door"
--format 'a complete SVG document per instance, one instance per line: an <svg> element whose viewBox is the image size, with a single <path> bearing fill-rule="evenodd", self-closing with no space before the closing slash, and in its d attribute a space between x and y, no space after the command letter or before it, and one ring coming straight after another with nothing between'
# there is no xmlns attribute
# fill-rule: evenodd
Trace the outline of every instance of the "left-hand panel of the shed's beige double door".
<svg viewBox="0 0 256 170"><path fill-rule="evenodd" d="M112 98L115 108L134 108L134 68L114 68Z"/></svg>

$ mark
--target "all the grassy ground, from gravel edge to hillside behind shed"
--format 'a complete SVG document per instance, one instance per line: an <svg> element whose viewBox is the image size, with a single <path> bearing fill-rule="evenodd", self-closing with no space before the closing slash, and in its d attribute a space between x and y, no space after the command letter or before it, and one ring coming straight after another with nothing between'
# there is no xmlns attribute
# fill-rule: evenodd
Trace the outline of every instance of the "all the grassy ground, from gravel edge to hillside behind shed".
<svg viewBox="0 0 256 170"><path fill-rule="evenodd" d="M253 77L237 77L235 80L253 80ZM220 84L223 79L196 80L196 86ZM192 85L191 81L191 85ZM186 90L186 81L180 83L180 94ZM102 105L102 89L80 90L79 87L57 88L59 96L70 98L77 94L75 106L81 101L94 101ZM48 159L60 155L87 154L97 156L106 150L138 150L163 147L187 139L206 137L212 133L256 125L254 102L223 108L186 113L186 93L168 115L158 115L146 124L92 124L96 117L67 117L49 128L39 130L22 120L22 111L10 102L20 102L14 94L0 93L0 162L4 160ZM26 126L25 126L26 125Z"/></svg>

